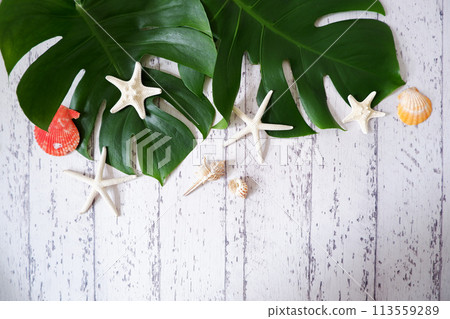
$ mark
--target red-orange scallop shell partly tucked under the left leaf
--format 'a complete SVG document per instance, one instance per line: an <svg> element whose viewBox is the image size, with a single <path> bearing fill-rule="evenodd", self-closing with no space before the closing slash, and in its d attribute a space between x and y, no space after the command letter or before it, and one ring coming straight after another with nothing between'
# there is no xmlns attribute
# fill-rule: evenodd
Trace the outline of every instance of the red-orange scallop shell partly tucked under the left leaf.
<svg viewBox="0 0 450 319"><path fill-rule="evenodd" d="M47 154L64 156L73 152L80 143L80 133L72 119L80 117L80 113L61 105L55 114L48 132L34 128L34 138Z"/></svg>

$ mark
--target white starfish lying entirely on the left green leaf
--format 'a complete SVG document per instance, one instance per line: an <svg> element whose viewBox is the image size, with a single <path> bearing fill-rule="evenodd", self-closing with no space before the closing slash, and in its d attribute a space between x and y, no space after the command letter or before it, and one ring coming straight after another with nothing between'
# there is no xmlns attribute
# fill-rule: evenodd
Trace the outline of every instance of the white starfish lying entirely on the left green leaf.
<svg viewBox="0 0 450 319"><path fill-rule="evenodd" d="M131 105L138 112L139 117L145 119L145 100L162 93L161 89L142 85L142 66L139 62L136 62L130 81L122 81L110 75L106 77L106 80L114 84L122 93L119 101L111 109L113 114Z"/></svg>

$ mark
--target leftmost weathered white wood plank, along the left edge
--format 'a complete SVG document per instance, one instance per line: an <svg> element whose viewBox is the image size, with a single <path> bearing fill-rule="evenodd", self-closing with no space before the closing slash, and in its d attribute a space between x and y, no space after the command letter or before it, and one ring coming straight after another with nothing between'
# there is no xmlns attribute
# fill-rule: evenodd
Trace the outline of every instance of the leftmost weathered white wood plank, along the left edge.
<svg viewBox="0 0 450 319"><path fill-rule="evenodd" d="M0 69L0 300L30 299L29 144L32 131L15 92L26 66L27 63L20 63L10 79L3 65Z"/></svg>

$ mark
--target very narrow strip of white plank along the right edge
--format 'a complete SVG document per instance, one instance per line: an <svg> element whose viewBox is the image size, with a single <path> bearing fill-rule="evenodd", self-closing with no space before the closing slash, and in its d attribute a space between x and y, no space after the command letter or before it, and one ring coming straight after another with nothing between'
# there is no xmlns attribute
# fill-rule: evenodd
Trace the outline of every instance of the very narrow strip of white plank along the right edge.
<svg viewBox="0 0 450 319"><path fill-rule="evenodd" d="M450 81L450 4L442 1L442 15L444 19L442 28L443 44L443 78L442 78L442 158L443 162L443 209L442 209L442 272L441 280L441 300L450 300L450 91L448 83Z"/></svg>

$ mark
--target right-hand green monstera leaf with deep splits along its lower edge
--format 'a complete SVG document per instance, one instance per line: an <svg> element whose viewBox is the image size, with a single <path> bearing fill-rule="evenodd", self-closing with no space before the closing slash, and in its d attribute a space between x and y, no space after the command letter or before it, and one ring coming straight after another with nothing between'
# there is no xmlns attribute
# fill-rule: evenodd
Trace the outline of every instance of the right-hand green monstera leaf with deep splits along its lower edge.
<svg viewBox="0 0 450 319"><path fill-rule="evenodd" d="M373 11L384 14L374 0L202 0L218 38L213 77L214 103L229 121L239 90L242 56L261 64L259 102L274 90L265 122L294 126L268 132L276 137L313 134L289 94L283 61L289 61L305 112L319 128L339 128L324 89L329 75L340 95L363 100L377 91L378 104L404 82L399 75L393 36L380 21L347 20L318 27L329 14ZM287 93L287 94L286 94Z"/></svg>

